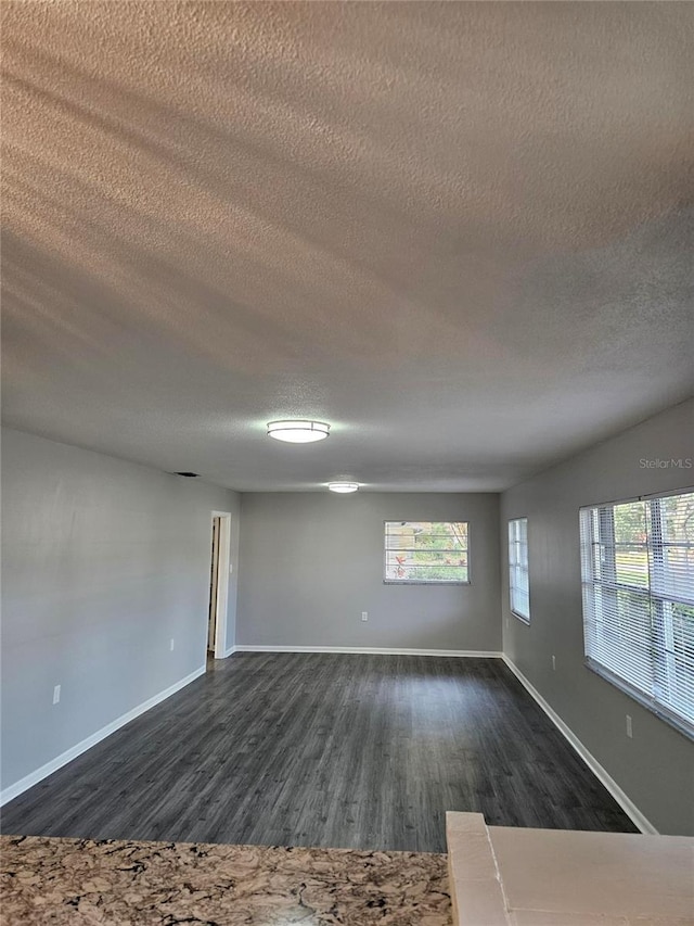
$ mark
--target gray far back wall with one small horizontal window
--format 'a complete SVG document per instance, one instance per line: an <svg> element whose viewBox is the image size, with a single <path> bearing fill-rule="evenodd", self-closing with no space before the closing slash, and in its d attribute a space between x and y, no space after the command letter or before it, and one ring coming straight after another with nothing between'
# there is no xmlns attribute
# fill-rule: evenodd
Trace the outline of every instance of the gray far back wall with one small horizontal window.
<svg viewBox="0 0 694 926"><path fill-rule="evenodd" d="M498 495L244 493L241 517L237 644L501 648ZM385 520L470 521L472 584L384 585Z"/></svg>

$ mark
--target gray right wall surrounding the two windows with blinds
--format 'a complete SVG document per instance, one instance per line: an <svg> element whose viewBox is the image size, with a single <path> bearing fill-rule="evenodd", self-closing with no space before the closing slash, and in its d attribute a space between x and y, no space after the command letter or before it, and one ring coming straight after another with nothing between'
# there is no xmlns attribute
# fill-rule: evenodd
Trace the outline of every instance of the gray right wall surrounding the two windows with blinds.
<svg viewBox="0 0 694 926"><path fill-rule="evenodd" d="M530 557L529 626L510 613L503 570L504 652L656 828L684 835L694 835L694 744L583 662L578 509L692 485L694 469L651 469L641 460L693 459L693 432L694 402L683 403L501 500L502 537L509 518L527 516ZM626 736L627 714L633 739Z"/></svg>

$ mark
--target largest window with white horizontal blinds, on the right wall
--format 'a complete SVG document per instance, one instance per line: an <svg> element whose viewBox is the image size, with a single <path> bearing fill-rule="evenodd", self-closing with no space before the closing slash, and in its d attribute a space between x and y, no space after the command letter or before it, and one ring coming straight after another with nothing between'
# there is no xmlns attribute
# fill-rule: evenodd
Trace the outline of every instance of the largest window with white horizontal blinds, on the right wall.
<svg viewBox="0 0 694 926"><path fill-rule="evenodd" d="M590 668L694 737L694 492L580 512Z"/></svg>

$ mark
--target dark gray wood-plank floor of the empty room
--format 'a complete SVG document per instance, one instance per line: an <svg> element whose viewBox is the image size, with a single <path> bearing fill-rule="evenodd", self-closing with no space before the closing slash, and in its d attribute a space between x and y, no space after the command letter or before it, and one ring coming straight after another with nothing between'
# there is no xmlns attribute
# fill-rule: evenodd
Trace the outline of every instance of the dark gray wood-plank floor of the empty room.
<svg viewBox="0 0 694 926"><path fill-rule="evenodd" d="M239 654L3 809L4 833L442 852L447 810L637 832L499 659Z"/></svg>

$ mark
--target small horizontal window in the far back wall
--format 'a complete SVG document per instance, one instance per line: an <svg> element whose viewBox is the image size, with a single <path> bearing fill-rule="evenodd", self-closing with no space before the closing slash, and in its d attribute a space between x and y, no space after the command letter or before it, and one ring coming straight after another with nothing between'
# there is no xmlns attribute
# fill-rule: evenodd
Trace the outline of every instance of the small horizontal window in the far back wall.
<svg viewBox="0 0 694 926"><path fill-rule="evenodd" d="M465 521L386 521L384 582L466 583Z"/></svg>

